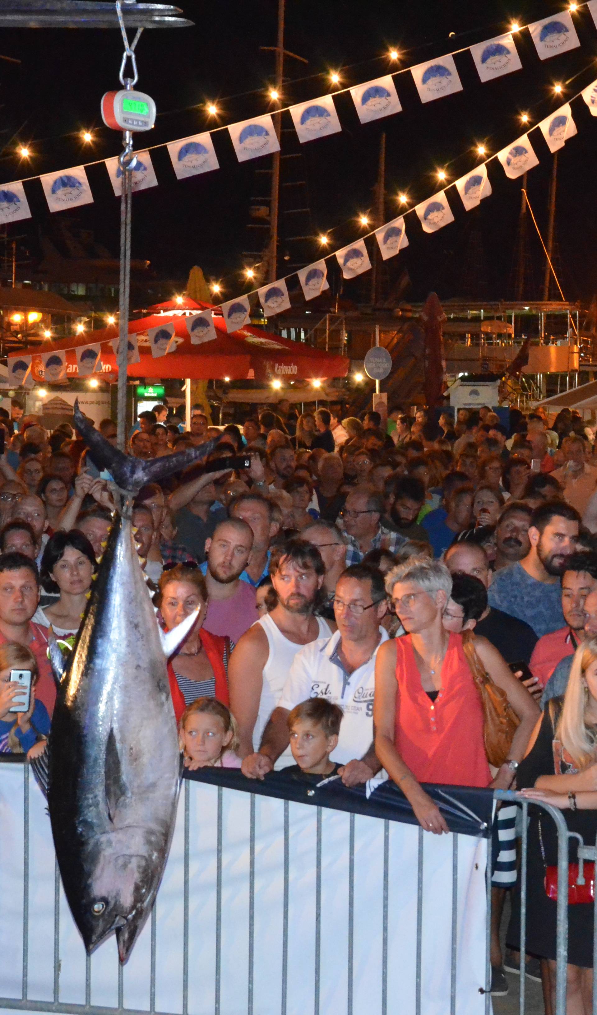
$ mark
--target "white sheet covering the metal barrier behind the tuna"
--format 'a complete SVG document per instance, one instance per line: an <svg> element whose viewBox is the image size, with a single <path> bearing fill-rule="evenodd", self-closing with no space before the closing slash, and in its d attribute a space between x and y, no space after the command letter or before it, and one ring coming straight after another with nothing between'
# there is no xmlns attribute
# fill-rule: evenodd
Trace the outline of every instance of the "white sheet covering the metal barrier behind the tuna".
<svg viewBox="0 0 597 1015"><path fill-rule="evenodd" d="M29 777L28 990L54 997L55 859L45 800ZM222 799L221 1015L248 1010L251 796ZM189 1015L213 1015L216 959L218 789L189 785ZM350 815L322 809L320 1011L347 1010ZM253 1011L279 1015L282 996L284 801L255 797ZM21 997L23 766L0 765L0 1012ZM155 1010L182 1012L185 792L156 900ZM353 1015L382 1012L384 826L354 817ZM317 808L290 802L287 1015L314 1011ZM388 1011L414 1012L418 828L389 822ZM423 836L424 1015L450 1009L453 836ZM482 1015L486 840L458 836L458 1015ZM85 1004L85 952L60 893L60 1002ZM91 957L91 1006L117 1007L118 955L111 938ZM149 1009L150 926L124 968L124 1006ZM22 1005L27 1009L26 1001Z"/></svg>

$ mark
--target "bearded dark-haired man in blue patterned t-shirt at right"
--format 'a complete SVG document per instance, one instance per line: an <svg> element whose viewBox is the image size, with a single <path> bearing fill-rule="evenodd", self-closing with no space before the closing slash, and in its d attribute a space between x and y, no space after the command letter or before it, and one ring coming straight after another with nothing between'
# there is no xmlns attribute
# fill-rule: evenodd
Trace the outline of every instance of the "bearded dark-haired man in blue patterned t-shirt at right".
<svg viewBox="0 0 597 1015"><path fill-rule="evenodd" d="M489 605L526 620L537 637L563 627L559 578L577 549L580 523L579 513L563 501L536 507L529 552L498 571L489 586Z"/></svg>

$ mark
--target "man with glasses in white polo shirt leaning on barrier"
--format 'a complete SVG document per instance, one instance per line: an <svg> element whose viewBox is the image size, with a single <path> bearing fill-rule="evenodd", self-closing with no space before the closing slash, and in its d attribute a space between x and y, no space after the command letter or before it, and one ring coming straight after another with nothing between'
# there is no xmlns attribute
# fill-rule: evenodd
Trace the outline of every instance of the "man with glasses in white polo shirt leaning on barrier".
<svg viewBox="0 0 597 1015"><path fill-rule="evenodd" d="M304 646L290 667L281 697L263 732L259 751L243 762L253 779L263 776L288 746L288 713L310 697L325 697L344 713L338 746L330 755L343 765L345 786L367 783L381 768L374 749L373 701L380 627L387 610L383 576L364 564L347 567L338 579L334 613L338 630Z"/></svg>

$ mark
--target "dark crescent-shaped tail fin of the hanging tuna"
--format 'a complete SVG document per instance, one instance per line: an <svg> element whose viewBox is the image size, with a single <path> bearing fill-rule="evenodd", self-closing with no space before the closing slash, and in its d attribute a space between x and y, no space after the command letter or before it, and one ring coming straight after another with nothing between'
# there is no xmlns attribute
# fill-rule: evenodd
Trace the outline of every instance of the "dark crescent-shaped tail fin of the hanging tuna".
<svg viewBox="0 0 597 1015"><path fill-rule="evenodd" d="M219 437L206 441L198 448L164 455L162 458L145 461L125 455L113 448L83 416L78 400L74 404L74 424L93 456L96 466L108 471L114 477L121 490L137 493L146 483L156 483L175 472L180 472L193 462L201 462L211 454L219 442Z"/></svg>

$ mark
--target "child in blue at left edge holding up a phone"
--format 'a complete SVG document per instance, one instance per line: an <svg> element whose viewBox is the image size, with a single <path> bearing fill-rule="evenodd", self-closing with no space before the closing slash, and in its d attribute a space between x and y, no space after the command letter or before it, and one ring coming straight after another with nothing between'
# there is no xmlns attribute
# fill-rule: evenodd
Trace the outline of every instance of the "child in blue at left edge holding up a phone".
<svg viewBox="0 0 597 1015"><path fill-rule="evenodd" d="M22 688L10 682L11 670L30 670L31 689L27 712L10 712L13 699L22 699ZM38 667L35 656L25 646L9 641L0 647L0 753L39 757L50 733L46 705L36 700Z"/></svg>

